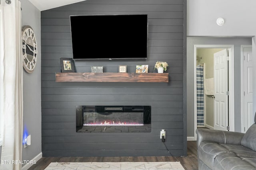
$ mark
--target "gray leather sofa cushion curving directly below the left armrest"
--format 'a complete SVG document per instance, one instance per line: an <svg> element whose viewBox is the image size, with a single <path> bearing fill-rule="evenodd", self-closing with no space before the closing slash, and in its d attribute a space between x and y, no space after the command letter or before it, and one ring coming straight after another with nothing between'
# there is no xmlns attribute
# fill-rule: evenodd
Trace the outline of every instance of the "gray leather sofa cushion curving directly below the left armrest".
<svg viewBox="0 0 256 170"><path fill-rule="evenodd" d="M232 152L212 141L203 141L198 146L198 157L211 169L214 169L214 160L216 156L221 153Z"/></svg>

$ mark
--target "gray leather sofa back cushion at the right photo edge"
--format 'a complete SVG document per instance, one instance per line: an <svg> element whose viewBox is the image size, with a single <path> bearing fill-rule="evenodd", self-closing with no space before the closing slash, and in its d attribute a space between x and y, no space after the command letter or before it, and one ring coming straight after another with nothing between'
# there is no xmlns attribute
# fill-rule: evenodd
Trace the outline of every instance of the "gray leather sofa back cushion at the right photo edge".
<svg viewBox="0 0 256 170"><path fill-rule="evenodd" d="M256 123L254 123L245 133L241 142L242 146L256 151Z"/></svg>

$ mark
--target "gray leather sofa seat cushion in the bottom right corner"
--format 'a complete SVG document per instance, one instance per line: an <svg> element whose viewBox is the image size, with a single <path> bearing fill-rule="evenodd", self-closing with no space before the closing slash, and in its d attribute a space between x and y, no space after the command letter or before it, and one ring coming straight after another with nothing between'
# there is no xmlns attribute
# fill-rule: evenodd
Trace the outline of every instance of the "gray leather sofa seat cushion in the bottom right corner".
<svg viewBox="0 0 256 170"><path fill-rule="evenodd" d="M214 170L256 170L252 164L242 160L234 153L221 153L216 156Z"/></svg>

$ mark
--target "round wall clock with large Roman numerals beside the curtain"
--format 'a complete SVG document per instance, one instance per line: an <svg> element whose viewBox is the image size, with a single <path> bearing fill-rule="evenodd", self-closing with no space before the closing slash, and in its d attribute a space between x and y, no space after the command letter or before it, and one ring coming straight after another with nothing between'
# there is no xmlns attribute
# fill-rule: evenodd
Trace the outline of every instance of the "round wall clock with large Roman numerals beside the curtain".
<svg viewBox="0 0 256 170"><path fill-rule="evenodd" d="M27 25L22 28L22 60L24 69L32 73L37 60L37 42L33 29Z"/></svg>

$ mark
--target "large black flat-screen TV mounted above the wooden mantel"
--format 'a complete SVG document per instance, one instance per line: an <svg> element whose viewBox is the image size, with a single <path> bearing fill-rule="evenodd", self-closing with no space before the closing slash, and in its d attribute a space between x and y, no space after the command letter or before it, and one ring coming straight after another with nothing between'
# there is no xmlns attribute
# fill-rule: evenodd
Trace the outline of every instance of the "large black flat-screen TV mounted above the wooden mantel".
<svg viewBox="0 0 256 170"><path fill-rule="evenodd" d="M73 59L146 59L147 15L70 16Z"/></svg>

